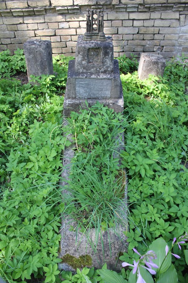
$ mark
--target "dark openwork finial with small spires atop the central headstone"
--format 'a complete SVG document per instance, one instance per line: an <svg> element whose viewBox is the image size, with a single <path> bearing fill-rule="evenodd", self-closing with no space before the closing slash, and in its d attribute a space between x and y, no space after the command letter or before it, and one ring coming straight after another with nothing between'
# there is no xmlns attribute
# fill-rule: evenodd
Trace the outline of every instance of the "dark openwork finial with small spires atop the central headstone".
<svg viewBox="0 0 188 283"><path fill-rule="evenodd" d="M86 33L84 34L84 40L99 40L105 41L104 34L104 14L101 10L87 9L86 14Z"/></svg>

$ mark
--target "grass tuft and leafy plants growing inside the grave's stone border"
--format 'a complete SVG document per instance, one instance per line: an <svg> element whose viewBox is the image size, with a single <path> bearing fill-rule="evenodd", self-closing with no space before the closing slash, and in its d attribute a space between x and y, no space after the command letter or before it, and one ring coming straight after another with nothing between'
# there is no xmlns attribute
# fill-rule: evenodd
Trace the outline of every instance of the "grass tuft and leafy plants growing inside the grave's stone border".
<svg viewBox="0 0 188 283"><path fill-rule="evenodd" d="M117 215L124 219L120 207L125 175L119 166L118 148L127 122L122 114L100 103L90 110L72 113L67 122L76 149L70 180L65 186L70 194L63 196L65 213L84 233L95 228L98 239L101 228L107 230L115 226Z"/></svg>

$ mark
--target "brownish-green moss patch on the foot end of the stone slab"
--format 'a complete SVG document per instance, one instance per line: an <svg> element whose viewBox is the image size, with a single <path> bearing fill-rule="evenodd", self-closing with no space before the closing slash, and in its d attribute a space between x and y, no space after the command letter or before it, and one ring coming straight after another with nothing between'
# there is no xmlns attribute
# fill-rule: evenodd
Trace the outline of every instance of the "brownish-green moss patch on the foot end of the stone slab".
<svg viewBox="0 0 188 283"><path fill-rule="evenodd" d="M92 265L92 258L88 254L76 258L69 253L66 253L62 258L62 262L72 266L74 269L84 268Z"/></svg>

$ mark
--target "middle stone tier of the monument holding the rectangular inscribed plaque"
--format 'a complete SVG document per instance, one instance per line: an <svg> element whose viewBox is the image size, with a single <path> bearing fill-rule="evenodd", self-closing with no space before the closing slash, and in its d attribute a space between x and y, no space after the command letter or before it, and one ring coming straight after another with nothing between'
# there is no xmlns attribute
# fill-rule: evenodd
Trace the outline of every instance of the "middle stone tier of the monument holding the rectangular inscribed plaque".
<svg viewBox="0 0 188 283"><path fill-rule="evenodd" d="M89 82L90 85L88 85ZM121 80L118 60L114 59L113 72L110 73L76 72L75 60L70 60L66 90L68 98L119 98L121 96Z"/></svg>

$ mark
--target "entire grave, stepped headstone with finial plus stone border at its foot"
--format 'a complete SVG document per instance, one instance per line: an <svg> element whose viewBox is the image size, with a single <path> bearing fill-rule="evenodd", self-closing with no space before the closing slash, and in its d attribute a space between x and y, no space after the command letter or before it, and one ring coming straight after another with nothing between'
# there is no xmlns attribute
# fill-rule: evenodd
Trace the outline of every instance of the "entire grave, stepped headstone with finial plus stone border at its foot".
<svg viewBox="0 0 188 283"><path fill-rule="evenodd" d="M75 60L69 61L64 99L64 121L70 115L70 111L79 111L80 107L87 108L86 101L88 107L99 101L116 112L123 111L123 91L118 60L113 59L112 38L105 37L103 33L103 10L87 11L86 33L84 36L78 37ZM69 138L71 139L71 136ZM118 136L116 140L118 143L117 152L119 152L124 148L124 135ZM67 185L70 162L74 154L71 146L65 148L62 187ZM126 176L125 171L123 171L123 174ZM128 228L126 180L125 177L123 204L120 205L121 212L124 215L123 221L118 219L116 227L110 228L108 232L101 230L101 238L98 239L96 250L88 241L89 237L93 243L95 242L95 229L88 231L87 236L83 235L81 231L76 234L75 231L69 230L70 225L76 228L75 221L69 215L62 215L60 230L62 237L59 254L62 263L59 264L60 269L76 272L75 266L67 261L67 258L72 257L77 262L84 262L80 268L84 266L101 268L106 262L109 269L121 270L122 265L118 260L118 255L119 252L127 251L126 236L123 233ZM65 193L68 193L68 191L63 190L63 194ZM111 244L109 244L109 238Z"/></svg>

